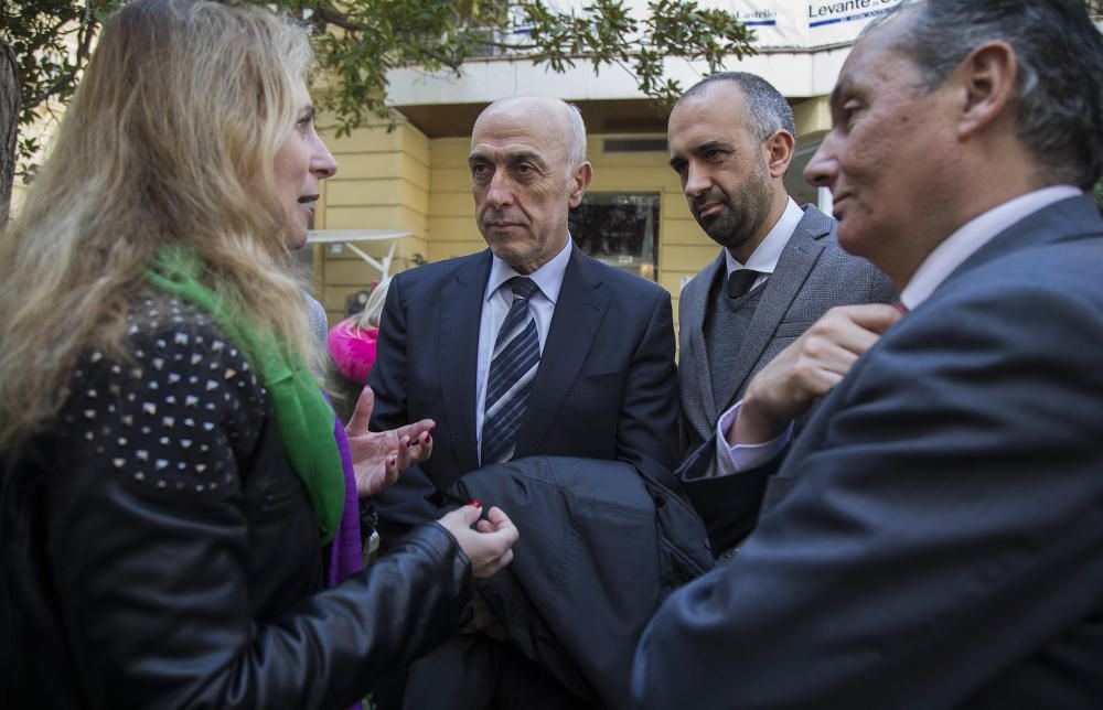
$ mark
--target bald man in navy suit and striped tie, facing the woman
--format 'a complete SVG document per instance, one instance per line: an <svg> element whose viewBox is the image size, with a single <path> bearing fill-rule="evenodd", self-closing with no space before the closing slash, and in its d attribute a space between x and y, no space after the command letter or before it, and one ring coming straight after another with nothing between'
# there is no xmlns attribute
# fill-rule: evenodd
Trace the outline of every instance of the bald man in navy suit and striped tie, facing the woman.
<svg viewBox="0 0 1103 710"><path fill-rule="evenodd" d="M436 518L433 484L445 490L495 462L481 449L513 277L538 287L529 311L539 354L508 458L678 460L670 294L587 257L567 233L591 174L578 110L536 97L492 104L475 122L469 165L490 248L398 275L382 318L372 429L437 422L431 458L377 499L385 537Z"/></svg>

